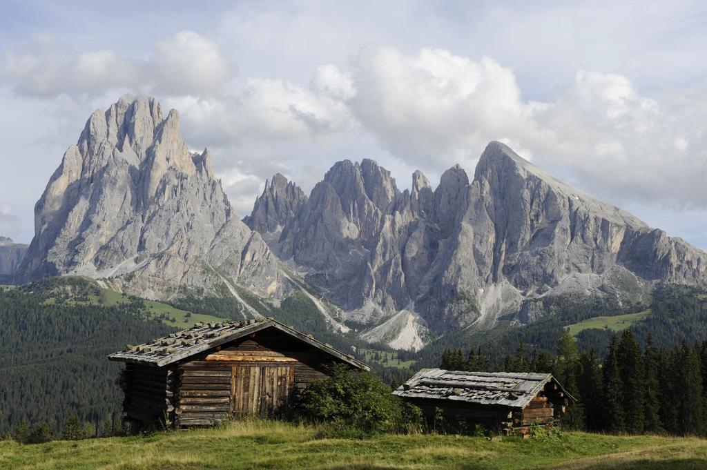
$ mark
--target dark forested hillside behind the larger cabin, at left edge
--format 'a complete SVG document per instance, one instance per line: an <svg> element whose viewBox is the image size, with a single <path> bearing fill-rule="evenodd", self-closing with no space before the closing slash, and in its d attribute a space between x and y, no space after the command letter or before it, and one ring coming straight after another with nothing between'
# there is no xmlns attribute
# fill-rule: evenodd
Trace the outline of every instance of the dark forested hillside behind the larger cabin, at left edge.
<svg viewBox="0 0 707 470"><path fill-rule="evenodd" d="M78 276L0 287L0 433L25 419L59 428L72 413L101 428L122 413L106 356L221 317L122 295Z"/></svg>

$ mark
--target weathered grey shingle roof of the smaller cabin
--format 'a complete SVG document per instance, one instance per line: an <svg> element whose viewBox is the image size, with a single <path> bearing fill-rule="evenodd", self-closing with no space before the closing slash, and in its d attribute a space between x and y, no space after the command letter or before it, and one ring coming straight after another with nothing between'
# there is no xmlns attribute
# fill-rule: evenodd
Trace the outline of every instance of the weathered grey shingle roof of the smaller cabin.
<svg viewBox="0 0 707 470"><path fill-rule="evenodd" d="M533 372L423 369L398 387L393 394L405 398L465 401L522 409L551 380L554 380L551 374Z"/></svg>

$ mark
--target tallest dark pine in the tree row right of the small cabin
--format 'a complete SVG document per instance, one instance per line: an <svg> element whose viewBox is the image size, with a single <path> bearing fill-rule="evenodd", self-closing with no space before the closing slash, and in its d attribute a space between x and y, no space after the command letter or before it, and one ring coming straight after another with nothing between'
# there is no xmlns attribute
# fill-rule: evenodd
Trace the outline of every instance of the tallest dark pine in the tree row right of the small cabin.
<svg viewBox="0 0 707 470"><path fill-rule="evenodd" d="M619 343L619 373L623 392L624 425L626 432L643 432L645 418L643 386L643 358L636 336L631 330L624 330Z"/></svg>

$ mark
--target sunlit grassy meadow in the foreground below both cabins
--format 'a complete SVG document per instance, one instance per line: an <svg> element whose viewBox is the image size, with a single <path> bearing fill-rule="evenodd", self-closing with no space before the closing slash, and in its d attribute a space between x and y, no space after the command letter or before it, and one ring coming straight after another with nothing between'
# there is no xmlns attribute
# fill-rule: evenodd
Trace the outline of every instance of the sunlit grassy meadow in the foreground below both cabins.
<svg viewBox="0 0 707 470"><path fill-rule="evenodd" d="M707 440L563 433L493 442L455 435L323 438L276 421L148 437L19 445L0 442L2 469L705 469Z"/></svg>

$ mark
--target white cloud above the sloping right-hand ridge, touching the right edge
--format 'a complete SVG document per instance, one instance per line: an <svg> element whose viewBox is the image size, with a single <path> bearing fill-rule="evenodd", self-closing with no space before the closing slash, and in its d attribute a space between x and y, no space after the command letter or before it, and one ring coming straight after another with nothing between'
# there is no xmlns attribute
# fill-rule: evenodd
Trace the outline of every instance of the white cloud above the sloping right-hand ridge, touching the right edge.
<svg viewBox="0 0 707 470"><path fill-rule="evenodd" d="M532 146L602 196L705 208L707 139L695 121L704 102L659 103L624 76L578 71L556 102L532 113L547 130Z"/></svg>

